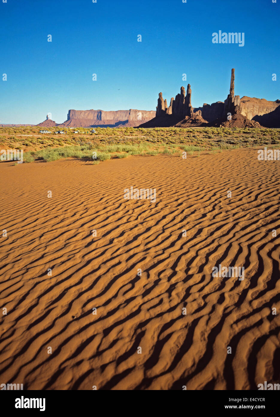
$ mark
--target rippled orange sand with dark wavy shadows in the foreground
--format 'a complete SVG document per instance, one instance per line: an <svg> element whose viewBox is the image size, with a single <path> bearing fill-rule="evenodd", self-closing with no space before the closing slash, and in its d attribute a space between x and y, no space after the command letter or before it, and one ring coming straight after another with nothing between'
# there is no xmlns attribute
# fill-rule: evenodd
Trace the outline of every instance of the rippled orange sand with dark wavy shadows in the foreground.
<svg viewBox="0 0 280 417"><path fill-rule="evenodd" d="M256 149L1 163L0 383L279 383L279 174ZM125 200L130 186L156 202ZM245 279L213 277L219 264Z"/></svg>

